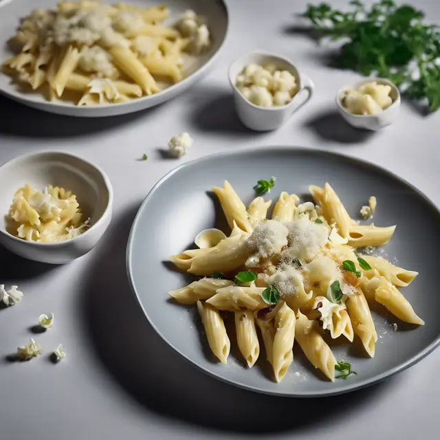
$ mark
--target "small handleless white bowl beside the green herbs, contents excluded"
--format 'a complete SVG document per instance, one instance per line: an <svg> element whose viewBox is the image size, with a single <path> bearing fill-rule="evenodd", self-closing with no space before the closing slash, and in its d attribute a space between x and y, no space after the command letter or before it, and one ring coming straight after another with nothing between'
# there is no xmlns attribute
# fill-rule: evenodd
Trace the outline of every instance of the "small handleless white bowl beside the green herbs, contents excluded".
<svg viewBox="0 0 440 440"><path fill-rule="evenodd" d="M353 115L353 113L350 113L342 105L345 92L355 90L362 84L371 83L372 81L375 81L377 84L389 85L391 87L390 96L393 100L393 104L391 104L390 107L387 107L381 113L376 113L375 115ZM336 107L338 107L338 111L342 115L342 118L344 118L344 120L346 120L350 125L355 126L358 129L377 131L383 129L384 126L393 124L393 122L395 122L397 119L400 108L400 92L396 85L385 78L364 78L357 83L345 85L338 90L338 93L336 94Z"/></svg>

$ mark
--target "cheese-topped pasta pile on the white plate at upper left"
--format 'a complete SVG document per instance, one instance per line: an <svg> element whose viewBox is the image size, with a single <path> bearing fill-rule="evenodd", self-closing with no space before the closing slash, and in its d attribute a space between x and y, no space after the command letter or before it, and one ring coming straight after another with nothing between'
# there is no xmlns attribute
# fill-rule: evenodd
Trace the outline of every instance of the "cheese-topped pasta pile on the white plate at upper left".
<svg viewBox="0 0 440 440"><path fill-rule="evenodd" d="M113 104L155 94L184 77L182 52L210 45L206 23L186 11L173 28L159 25L168 8L126 3L61 2L23 19L10 43L16 56L3 63L14 80L48 100Z"/></svg>

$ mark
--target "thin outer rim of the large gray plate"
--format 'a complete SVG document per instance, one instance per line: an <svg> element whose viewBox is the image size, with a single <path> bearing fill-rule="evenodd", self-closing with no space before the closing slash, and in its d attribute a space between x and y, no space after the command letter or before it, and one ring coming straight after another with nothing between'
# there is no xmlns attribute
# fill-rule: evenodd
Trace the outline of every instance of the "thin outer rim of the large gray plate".
<svg viewBox="0 0 440 440"><path fill-rule="evenodd" d="M382 173L384 175L387 175L388 177L391 177L393 179L396 179L400 183L405 184L406 186L409 186L411 190L413 190L419 197L421 197L426 203L428 203L431 208L437 212L437 214L440 217L440 208L428 197L426 196L421 190L416 188L414 185L412 185L409 181L404 179L404 177L399 177L399 175L393 173L393 171L388 170L387 168L384 168L383 166L373 164L373 162L369 162L368 160L360 159L359 157L354 157L347 154L342 153L335 153L333 151L327 151L321 148L314 148L314 147L307 147L307 146L296 146L296 145L272 145L272 146L258 146L252 149L254 152L264 152L267 151L270 153L271 151L291 151L293 153L316 153L319 155L327 155L330 157L339 157L344 160L355 162L356 164L360 164L362 166L369 166L370 168L373 168L373 170ZM395 366L393 369L388 369L387 371L384 371L383 373L377 374L373 376L371 379L366 379L362 382L359 382L358 384L353 385L345 385L343 388L339 388L336 391L307 391L303 393L292 393L292 392L286 392L283 391L283 388L280 387L280 391L270 391L265 390L262 388L259 388L258 386L252 386L248 384L242 384L241 382L237 382L233 379L227 378L227 377L221 377L217 375L216 373L213 373L212 371L209 371L206 369L203 365L197 364L197 362L193 361L188 355L180 351L177 347L174 347L173 344L168 342L168 340L162 335L162 333L157 329L155 323L151 320L151 318L146 313L146 310L144 309L144 305L142 305L142 302L140 300L139 294L137 294L137 291L135 289L135 283L133 280L133 271L131 270L131 264L132 264L132 248L133 248L133 241L135 236L135 230L137 228L137 224L140 221L141 214L143 210L145 209L145 206L147 205L149 199L153 196L153 194L159 189L162 184L164 184L165 181L170 179L173 175L179 172L182 168L186 168L188 166L196 165L196 164L203 164L203 162L207 160L214 159L215 157L234 157L236 155L243 155L244 153L249 153L249 148L237 148L234 151L222 151L220 153L213 153L210 155L198 157L197 159L192 159L188 162L185 162L184 164L180 164L173 168L172 170L168 171L163 177L161 177L151 188L150 191L148 191L148 194L142 201L139 209L137 210L135 219L133 220L133 223L131 225L130 233L129 233L129 239L127 241L126 245L126 272L127 277L129 278L129 284L131 288L132 294L135 296L135 299L137 301L137 304L140 305L140 308L142 309L142 312L144 313L146 319L150 323L151 327L155 330L157 335L162 339L163 342L165 342L168 347L173 349L175 353L178 353L181 355L184 360L192 364L193 366L197 367L197 369L203 371L203 373L206 373L210 375L211 377L214 377L217 380L220 380L221 382L225 382L226 384L230 384L233 386L236 386L241 389L245 389L248 391L253 391L255 393L261 393L265 395L272 395L272 396L278 396L278 397L294 397L294 398L314 398L314 397L329 397L333 395L341 395L344 393L351 393L352 391L360 390L361 388L366 388L367 386L371 386L373 384L377 384L379 382L382 382L383 380L388 379L389 377L393 377L394 375L397 375L398 373L401 373L402 371L405 371L406 369L410 368L411 366L417 364L417 362L420 362L426 356L428 356L432 351L434 351L437 347L440 345L440 333L437 335L437 338L434 339L433 342L431 342L427 347L413 355L411 358L408 358L406 362L402 362L398 366Z"/></svg>

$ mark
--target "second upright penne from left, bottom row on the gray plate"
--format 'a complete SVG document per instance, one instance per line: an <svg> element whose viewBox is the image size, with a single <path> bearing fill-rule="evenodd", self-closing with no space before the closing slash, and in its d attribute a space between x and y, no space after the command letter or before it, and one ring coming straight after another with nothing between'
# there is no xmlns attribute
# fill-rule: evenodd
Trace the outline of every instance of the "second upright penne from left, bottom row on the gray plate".
<svg viewBox="0 0 440 440"><path fill-rule="evenodd" d="M260 355L260 343L258 336L256 336L253 312L250 310L236 311L235 329L240 353L245 358L249 368L252 368Z"/></svg>

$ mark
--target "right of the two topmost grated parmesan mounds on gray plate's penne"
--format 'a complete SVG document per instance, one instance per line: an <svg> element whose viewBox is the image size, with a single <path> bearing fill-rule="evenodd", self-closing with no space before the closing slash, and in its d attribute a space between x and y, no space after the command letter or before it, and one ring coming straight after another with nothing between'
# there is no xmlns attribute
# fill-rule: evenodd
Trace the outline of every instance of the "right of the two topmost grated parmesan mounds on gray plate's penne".
<svg viewBox="0 0 440 440"><path fill-rule="evenodd" d="M312 259L322 245L327 243L327 229L319 223L314 223L303 216L286 223L289 231L289 253L297 259Z"/></svg>

